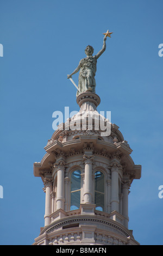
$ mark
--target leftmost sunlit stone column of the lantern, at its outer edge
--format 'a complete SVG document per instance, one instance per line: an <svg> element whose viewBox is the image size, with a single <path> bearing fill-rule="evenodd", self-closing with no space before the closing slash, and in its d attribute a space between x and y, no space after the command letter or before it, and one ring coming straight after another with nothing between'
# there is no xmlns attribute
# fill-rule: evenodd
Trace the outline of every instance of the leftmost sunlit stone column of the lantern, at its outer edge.
<svg viewBox="0 0 163 256"><path fill-rule="evenodd" d="M51 212L51 192L52 192L52 179L45 178L44 179L44 184L45 184L45 191L46 191L46 196L45 196L45 226L49 225L51 223L51 217L49 215L52 213Z"/></svg>

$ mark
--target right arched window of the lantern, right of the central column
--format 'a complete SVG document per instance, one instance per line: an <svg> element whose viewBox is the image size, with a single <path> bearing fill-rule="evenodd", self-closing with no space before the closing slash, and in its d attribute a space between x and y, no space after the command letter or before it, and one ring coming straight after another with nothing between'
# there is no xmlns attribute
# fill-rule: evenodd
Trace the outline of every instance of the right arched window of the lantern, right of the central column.
<svg viewBox="0 0 163 256"><path fill-rule="evenodd" d="M95 173L95 204L96 210L104 211L104 174L99 170Z"/></svg>

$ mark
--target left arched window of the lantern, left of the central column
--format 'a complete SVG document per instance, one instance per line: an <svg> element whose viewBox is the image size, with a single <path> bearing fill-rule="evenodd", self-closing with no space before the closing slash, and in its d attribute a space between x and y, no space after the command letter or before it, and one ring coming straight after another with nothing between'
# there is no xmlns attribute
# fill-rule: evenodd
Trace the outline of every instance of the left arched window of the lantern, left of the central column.
<svg viewBox="0 0 163 256"><path fill-rule="evenodd" d="M81 172L74 170L71 174L71 204L70 210L80 208Z"/></svg>

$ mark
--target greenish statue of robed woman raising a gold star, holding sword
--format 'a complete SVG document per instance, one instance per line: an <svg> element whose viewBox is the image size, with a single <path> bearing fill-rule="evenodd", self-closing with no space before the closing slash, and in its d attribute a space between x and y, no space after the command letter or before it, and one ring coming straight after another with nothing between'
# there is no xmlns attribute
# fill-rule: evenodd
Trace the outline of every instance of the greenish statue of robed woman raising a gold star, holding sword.
<svg viewBox="0 0 163 256"><path fill-rule="evenodd" d="M97 59L105 51L106 37L107 36L111 37L110 34L112 34L112 32L107 31L106 33L103 33L103 34L105 36L104 36L104 40L103 40L102 49L95 56L92 56L94 49L92 46L88 45L85 48L86 58L80 60L79 65L72 72L71 75L67 75L67 78L71 78L71 81L73 82L72 75L76 74L80 70L79 71L77 96L80 93L84 93L84 92L95 93L95 87L96 87L95 75L96 75ZM73 84L76 86L76 84L74 82L73 82Z"/></svg>

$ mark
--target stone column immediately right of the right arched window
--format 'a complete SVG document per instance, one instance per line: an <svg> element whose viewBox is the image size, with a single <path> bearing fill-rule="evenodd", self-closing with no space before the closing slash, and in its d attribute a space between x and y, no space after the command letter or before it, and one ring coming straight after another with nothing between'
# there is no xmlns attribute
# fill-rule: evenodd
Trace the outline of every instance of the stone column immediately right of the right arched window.
<svg viewBox="0 0 163 256"><path fill-rule="evenodd" d="M111 164L111 211L119 212L119 195L118 195L118 168L120 164L113 162Z"/></svg>

